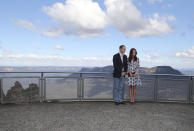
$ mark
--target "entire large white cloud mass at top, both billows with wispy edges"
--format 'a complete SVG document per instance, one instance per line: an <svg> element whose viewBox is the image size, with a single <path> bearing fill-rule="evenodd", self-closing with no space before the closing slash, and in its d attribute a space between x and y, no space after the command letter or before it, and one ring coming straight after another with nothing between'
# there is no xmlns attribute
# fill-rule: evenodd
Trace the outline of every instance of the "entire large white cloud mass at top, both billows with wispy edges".
<svg viewBox="0 0 194 131"><path fill-rule="evenodd" d="M127 38L163 36L173 31L168 22L176 20L174 16L154 13L145 17L133 4L133 0L104 0L104 6L106 10L102 10L93 0L66 0L65 3L57 2L42 8L53 20L49 29L37 29L27 20L18 20L16 23L26 29L38 30L48 37L63 34L81 38L94 37L103 34L109 26Z"/></svg>

